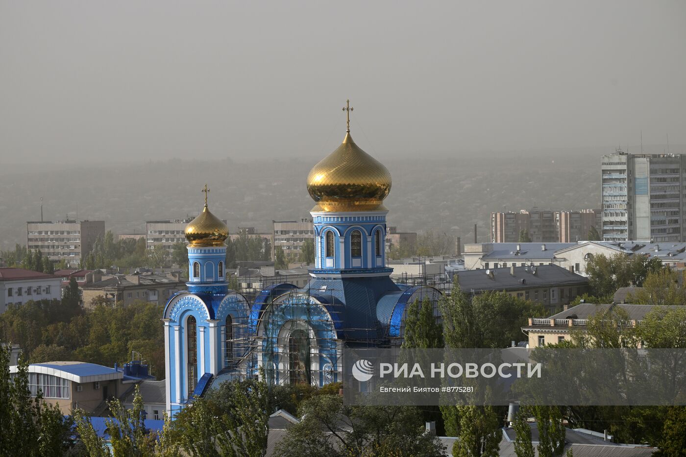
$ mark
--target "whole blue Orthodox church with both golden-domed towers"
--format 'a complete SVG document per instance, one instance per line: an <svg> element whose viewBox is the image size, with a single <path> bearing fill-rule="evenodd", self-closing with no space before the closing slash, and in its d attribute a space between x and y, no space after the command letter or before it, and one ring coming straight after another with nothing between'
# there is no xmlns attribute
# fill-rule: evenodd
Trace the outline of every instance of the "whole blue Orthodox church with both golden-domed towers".
<svg viewBox="0 0 686 457"><path fill-rule="evenodd" d="M167 412L228 379L323 386L342 379L344 347L401 344L405 307L438 290L396 284L386 266L388 169L355 144L350 112L343 143L307 176L315 202L315 264L305 288L281 283L253 303L228 290L228 229L207 204L186 227L189 282L165 306Z"/></svg>

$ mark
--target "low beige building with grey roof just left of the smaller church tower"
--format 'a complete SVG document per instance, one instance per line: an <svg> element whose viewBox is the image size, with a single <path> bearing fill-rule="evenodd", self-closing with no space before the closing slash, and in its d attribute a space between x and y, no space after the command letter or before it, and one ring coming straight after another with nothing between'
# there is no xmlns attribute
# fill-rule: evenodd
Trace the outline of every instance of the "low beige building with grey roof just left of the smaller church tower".
<svg viewBox="0 0 686 457"><path fill-rule="evenodd" d="M178 273L101 274L93 273L93 282L80 286L82 301L90 307L93 298L102 296L116 305L134 301L152 301L164 305L169 297L185 287Z"/></svg>

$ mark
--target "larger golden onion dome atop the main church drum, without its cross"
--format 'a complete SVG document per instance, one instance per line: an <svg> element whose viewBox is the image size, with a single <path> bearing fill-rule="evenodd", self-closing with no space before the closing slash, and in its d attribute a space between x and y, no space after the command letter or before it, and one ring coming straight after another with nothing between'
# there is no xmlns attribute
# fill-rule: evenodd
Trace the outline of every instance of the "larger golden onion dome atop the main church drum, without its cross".
<svg viewBox="0 0 686 457"><path fill-rule="evenodd" d="M337 150L307 176L307 191L319 211L386 211L390 192L388 169L355 144L348 132Z"/></svg>

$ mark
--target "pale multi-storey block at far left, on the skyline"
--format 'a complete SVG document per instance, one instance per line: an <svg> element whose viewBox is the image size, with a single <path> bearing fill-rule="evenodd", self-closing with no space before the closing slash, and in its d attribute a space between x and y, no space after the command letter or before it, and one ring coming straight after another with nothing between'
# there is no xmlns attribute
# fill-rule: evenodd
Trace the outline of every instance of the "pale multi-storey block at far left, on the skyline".
<svg viewBox="0 0 686 457"><path fill-rule="evenodd" d="M26 223L29 250L40 249L51 261L66 259L70 265L78 265L91 252L95 240L104 236L105 222L102 220Z"/></svg>

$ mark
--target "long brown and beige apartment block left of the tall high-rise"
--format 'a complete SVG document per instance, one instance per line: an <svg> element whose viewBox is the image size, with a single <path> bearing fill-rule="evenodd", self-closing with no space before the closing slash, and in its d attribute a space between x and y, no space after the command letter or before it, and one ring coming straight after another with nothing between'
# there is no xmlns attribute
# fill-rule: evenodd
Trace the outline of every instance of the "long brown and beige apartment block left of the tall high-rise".
<svg viewBox="0 0 686 457"><path fill-rule="evenodd" d="M519 232L525 230L536 243L577 242L587 239L591 227L600 232L601 215L595 209L490 213L490 239L495 243L516 243Z"/></svg>

